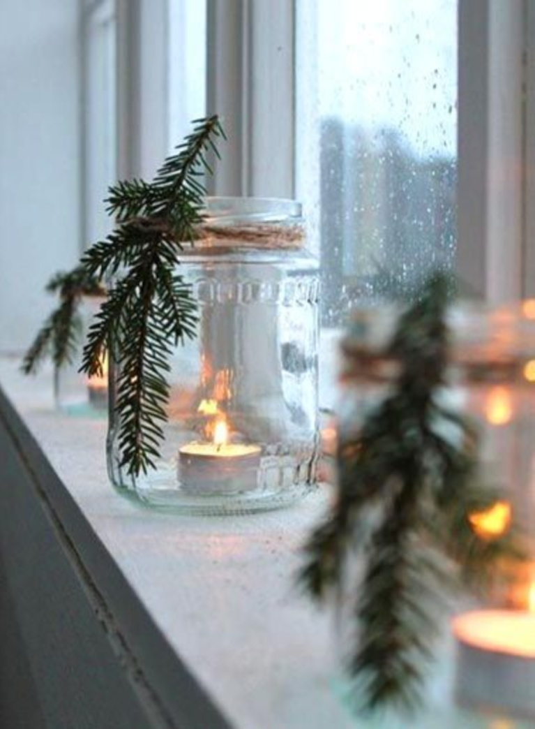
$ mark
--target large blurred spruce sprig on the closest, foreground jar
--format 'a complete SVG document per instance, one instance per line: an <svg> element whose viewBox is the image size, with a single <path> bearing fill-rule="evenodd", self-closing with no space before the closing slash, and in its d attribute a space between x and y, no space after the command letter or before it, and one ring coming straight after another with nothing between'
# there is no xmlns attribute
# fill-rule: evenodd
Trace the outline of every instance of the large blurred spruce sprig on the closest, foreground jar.
<svg viewBox="0 0 535 729"><path fill-rule="evenodd" d="M418 705L447 585L475 587L504 558L523 559L513 529L488 540L469 522L499 494L480 482L475 427L440 397L448 289L445 276L432 277L401 316L384 353L399 367L395 384L338 445L336 501L299 574L319 601L352 595L346 668L364 711Z"/></svg>

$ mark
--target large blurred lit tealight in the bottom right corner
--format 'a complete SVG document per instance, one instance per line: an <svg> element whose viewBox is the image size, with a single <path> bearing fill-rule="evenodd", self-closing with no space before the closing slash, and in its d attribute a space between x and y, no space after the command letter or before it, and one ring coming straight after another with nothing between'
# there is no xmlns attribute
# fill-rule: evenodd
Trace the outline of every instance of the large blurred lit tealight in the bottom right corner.
<svg viewBox="0 0 535 729"><path fill-rule="evenodd" d="M461 704L535 719L535 585L530 610L477 610L453 620Z"/></svg>

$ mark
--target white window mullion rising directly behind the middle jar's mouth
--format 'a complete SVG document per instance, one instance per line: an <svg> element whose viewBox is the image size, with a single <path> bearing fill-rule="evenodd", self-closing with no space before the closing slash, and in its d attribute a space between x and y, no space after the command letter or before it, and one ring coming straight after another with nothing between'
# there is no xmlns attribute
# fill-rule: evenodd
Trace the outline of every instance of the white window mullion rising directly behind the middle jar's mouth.
<svg viewBox="0 0 535 729"><path fill-rule="evenodd" d="M292 197L293 0L208 0L207 111L229 137L210 191Z"/></svg>

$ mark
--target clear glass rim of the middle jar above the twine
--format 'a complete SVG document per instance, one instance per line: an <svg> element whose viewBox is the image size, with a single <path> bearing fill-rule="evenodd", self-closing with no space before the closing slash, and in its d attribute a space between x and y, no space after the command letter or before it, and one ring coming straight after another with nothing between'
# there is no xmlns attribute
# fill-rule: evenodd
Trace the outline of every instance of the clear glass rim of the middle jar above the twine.
<svg viewBox="0 0 535 729"><path fill-rule="evenodd" d="M296 225L302 222L303 206L284 198L214 196L206 198L202 213L204 225Z"/></svg>

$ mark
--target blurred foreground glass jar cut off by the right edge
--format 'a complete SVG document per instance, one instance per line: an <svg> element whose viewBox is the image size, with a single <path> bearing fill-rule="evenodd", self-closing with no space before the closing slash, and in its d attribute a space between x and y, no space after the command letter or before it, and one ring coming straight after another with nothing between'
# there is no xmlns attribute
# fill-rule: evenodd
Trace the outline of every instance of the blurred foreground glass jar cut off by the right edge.
<svg viewBox="0 0 535 729"><path fill-rule="evenodd" d="M360 433L366 416L392 392L399 363L388 354L398 321L395 307L357 312L342 348L338 439L342 446ZM447 378L437 400L452 413L468 416L479 434L482 483L502 494L488 509L472 512L466 526L492 548L494 540L520 527L528 561L503 561L484 596L461 599L435 673L429 669L424 692L429 705L413 726L479 726L465 709L484 709L490 717L535 720L535 301L489 309L453 306L448 313L451 352ZM455 422L435 428L456 443ZM493 491L494 493L494 491ZM425 543L422 542L422 549ZM343 663L354 650L355 589L362 565L349 558L340 592L337 644ZM415 603L421 596L414 596ZM457 611L455 611L457 612ZM448 621L444 620L445 631ZM461 708L452 709L456 701ZM438 712L438 713L437 713ZM516 722L520 717L520 722ZM522 720L528 717L528 723ZM403 722L402 722L403 725ZM483 724L481 724L483 725ZM497 725L497 724L496 724ZM507 722L507 725L509 723ZM512 725L512 724L511 724ZM443 726L437 723L437 726Z"/></svg>

